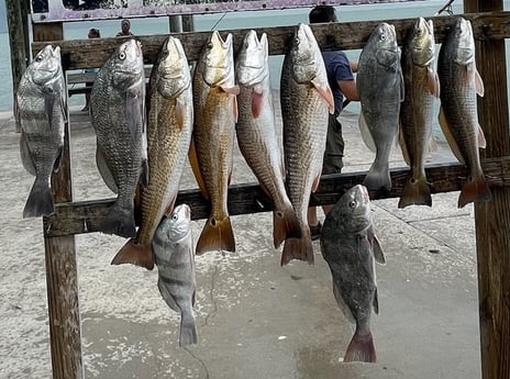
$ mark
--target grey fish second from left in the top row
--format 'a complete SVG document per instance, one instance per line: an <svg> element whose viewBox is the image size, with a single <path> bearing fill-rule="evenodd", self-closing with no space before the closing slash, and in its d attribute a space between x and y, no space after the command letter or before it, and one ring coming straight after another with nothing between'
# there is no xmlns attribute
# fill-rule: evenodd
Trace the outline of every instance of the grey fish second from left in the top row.
<svg viewBox="0 0 510 379"><path fill-rule="evenodd" d="M98 73L90 100L97 165L107 186L118 194L100 230L134 237L135 189L138 179L147 182L145 76L140 42L127 40L115 49Z"/></svg>

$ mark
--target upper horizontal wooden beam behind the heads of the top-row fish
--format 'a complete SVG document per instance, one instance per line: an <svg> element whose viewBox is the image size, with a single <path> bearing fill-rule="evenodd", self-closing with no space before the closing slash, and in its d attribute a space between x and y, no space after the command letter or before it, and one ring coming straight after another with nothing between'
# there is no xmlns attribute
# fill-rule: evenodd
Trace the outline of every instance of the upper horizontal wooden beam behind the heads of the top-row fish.
<svg viewBox="0 0 510 379"><path fill-rule="evenodd" d="M475 35L479 40L503 40L510 36L510 13L480 13L465 14L473 21ZM442 42L445 31L454 23L454 19L450 16L431 18L434 20L434 30L436 42ZM397 30L399 42L403 37L409 27L414 23L415 19L399 19L389 20ZM313 24L311 27L315 34L319 44L329 49L354 49L362 48L368 40L374 27L380 21L363 21L363 22L341 22ZM295 26L277 26L277 27L255 27L257 33L266 33L269 43L270 55L281 55L288 49L289 40L292 37ZM234 37L235 49L241 46L241 43L248 30L225 30L222 35L232 33ZM211 32L196 33L171 33L182 42L188 60L197 60L206 41L210 37ZM160 46L167 34L162 35L142 35L137 38L142 42L144 49L144 59L146 64L154 64L159 53ZM86 67L101 67L102 64L110 57L115 47L123 37L111 38L91 38L91 40L73 40L73 41L55 41L62 48L63 60L66 69L79 69ZM38 52L45 44L34 43L33 51Z"/></svg>

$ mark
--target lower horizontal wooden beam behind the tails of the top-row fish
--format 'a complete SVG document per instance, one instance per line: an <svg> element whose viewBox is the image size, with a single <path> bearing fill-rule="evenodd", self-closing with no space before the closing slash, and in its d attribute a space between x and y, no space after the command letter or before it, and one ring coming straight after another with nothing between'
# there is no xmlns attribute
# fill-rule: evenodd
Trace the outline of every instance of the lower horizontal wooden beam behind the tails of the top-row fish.
<svg viewBox="0 0 510 379"><path fill-rule="evenodd" d="M510 157L483 161L484 174L490 186L510 186ZM461 190L466 168L459 164L441 164L426 167L426 177L432 193ZM391 170L392 190L372 191L370 199L398 198L408 180L409 168ZM363 182L366 172L324 175L310 205L333 204L348 188ZM114 199L81 201L56 204L55 213L44 218L44 234L48 237L100 232L99 224ZM191 208L193 220L209 216L209 202L198 189L182 190L176 203L187 203ZM269 212L273 204L257 183L235 185L229 188L229 212L231 215Z"/></svg>

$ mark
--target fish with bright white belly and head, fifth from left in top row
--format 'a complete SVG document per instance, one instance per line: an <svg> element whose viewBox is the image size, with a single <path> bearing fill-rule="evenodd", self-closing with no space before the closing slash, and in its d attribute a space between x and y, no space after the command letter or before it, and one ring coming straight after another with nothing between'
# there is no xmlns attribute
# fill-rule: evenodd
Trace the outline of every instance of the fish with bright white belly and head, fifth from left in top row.
<svg viewBox="0 0 510 379"><path fill-rule="evenodd" d="M260 41L255 31L246 33L235 75L240 86L237 143L260 187L273 200L273 241L278 247L287 237L299 238L301 227L285 189L284 155L276 135L265 33Z"/></svg>

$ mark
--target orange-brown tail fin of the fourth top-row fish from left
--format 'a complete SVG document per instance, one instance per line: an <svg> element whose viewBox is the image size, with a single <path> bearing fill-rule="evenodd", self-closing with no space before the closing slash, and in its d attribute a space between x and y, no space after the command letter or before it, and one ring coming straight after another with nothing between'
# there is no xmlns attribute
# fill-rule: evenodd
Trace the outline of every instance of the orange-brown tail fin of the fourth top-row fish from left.
<svg viewBox="0 0 510 379"><path fill-rule="evenodd" d="M211 250L235 252L234 231L230 218L209 218L197 242L197 255Z"/></svg>

